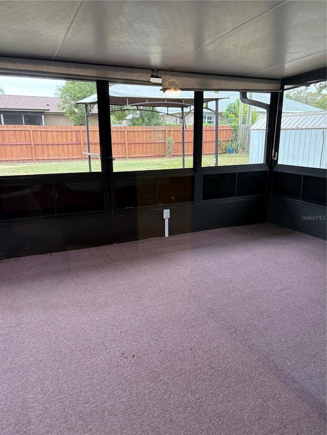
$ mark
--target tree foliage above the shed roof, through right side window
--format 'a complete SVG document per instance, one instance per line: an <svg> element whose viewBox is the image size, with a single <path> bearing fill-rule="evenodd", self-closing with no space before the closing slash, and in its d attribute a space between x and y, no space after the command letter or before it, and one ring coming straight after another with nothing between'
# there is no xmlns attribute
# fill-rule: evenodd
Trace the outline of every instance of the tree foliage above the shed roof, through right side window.
<svg viewBox="0 0 327 435"><path fill-rule="evenodd" d="M313 87L300 87L286 92L287 98L299 101L299 103L308 104L309 106L319 107L327 110L327 94L325 93L327 82L320 82Z"/></svg>

